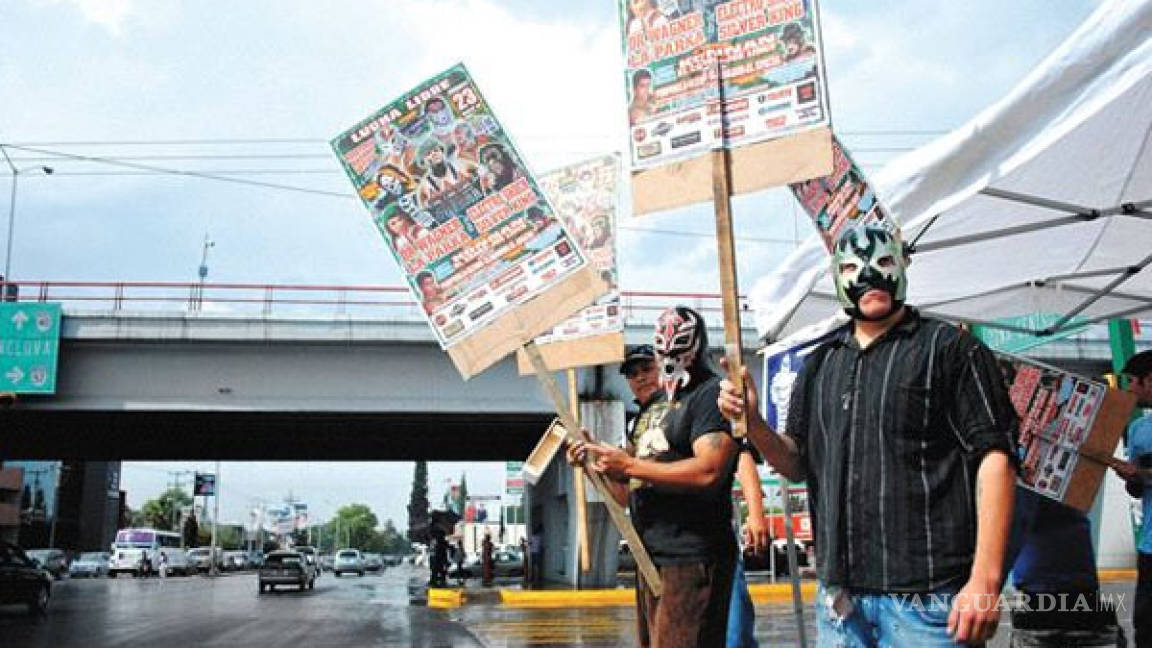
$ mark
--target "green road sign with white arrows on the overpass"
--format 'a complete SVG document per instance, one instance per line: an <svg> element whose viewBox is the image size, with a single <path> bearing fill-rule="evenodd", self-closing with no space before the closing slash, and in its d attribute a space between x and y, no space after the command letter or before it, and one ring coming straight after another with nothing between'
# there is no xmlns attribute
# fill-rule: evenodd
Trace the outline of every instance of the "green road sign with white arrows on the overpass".
<svg viewBox="0 0 1152 648"><path fill-rule="evenodd" d="M55 393L59 355L59 303L0 303L0 392Z"/></svg>

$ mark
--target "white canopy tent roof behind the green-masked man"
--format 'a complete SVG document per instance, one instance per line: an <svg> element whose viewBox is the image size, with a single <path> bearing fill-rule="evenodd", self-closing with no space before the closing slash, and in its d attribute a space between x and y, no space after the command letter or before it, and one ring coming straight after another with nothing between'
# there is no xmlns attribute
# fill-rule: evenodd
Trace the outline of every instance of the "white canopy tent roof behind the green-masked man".
<svg viewBox="0 0 1152 648"><path fill-rule="evenodd" d="M908 301L927 312L1059 314L1022 329L1048 334L1152 311L1152 0L1104 2L1007 97L872 180L916 242ZM838 310L826 268L812 236L757 282L763 337Z"/></svg>

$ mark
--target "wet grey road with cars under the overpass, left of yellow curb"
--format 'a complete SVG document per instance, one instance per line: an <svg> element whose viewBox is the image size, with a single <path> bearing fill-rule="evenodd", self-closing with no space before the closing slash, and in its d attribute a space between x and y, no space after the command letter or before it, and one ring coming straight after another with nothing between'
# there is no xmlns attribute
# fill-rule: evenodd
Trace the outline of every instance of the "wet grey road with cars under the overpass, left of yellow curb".
<svg viewBox="0 0 1152 648"><path fill-rule="evenodd" d="M0 645L105 646L480 646L439 610L409 605L408 568L334 578L311 592L258 594L240 573L152 579L76 579L53 587L48 613L0 606Z"/></svg>

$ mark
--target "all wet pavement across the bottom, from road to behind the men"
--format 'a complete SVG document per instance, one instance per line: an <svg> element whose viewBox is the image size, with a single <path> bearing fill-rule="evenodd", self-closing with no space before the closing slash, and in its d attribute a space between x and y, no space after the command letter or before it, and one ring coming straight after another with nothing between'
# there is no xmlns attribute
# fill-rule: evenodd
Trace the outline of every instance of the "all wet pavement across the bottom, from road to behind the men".
<svg viewBox="0 0 1152 648"><path fill-rule="evenodd" d="M524 610L501 606L494 592L449 610L422 604L427 572L389 568L379 575L317 580L312 592L258 594L256 575L78 579L53 587L48 613L29 617L0 606L0 646L632 646L631 606ZM1105 586L1131 596L1131 585ZM415 604L414 600L415 598ZM790 604L756 606L761 646L796 646ZM1130 632L1128 617L1122 615ZM811 605L805 605L814 645ZM990 646L1006 646L1007 623ZM1130 635L1129 635L1130 636Z"/></svg>

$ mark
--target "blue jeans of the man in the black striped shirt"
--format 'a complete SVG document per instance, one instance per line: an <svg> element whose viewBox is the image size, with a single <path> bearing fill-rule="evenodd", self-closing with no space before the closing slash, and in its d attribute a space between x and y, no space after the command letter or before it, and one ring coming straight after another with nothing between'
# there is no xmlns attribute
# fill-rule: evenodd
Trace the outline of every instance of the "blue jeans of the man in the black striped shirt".
<svg viewBox="0 0 1152 648"><path fill-rule="evenodd" d="M844 592L833 610L820 583L816 628L820 648L956 648L948 635L952 595L958 588L929 594L852 594Z"/></svg>

